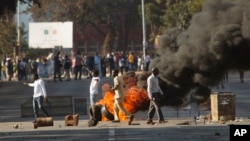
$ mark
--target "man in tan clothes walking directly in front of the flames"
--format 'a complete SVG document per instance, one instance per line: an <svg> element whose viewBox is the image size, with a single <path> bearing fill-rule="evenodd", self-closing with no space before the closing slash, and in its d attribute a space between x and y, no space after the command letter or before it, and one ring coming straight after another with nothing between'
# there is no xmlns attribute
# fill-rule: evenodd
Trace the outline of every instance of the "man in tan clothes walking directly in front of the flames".
<svg viewBox="0 0 250 141"><path fill-rule="evenodd" d="M114 77L114 87L111 88L112 91L115 92L114 96L114 122L119 122L119 111L122 111L127 118L129 118L128 125L131 125L134 115L129 114L126 109L123 107L122 102L124 99L123 87L124 82L122 76L118 76L119 71L113 71Z"/></svg>

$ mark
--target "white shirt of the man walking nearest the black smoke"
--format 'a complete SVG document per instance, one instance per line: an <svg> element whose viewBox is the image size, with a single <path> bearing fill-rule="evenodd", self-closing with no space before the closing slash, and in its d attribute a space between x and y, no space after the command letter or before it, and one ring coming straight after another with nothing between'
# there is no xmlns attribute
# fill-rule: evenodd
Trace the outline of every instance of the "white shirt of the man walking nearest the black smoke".
<svg viewBox="0 0 250 141"><path fill-rule="evenodd" d="M158 77L154 76L154 74L151 74L148 79L147 79L147 92L148 92L148 97L151 99L152 98L152 94L155 92L160 92L161 94L163 94L160 86L159 86L159 81L158 81Z"/></svg>

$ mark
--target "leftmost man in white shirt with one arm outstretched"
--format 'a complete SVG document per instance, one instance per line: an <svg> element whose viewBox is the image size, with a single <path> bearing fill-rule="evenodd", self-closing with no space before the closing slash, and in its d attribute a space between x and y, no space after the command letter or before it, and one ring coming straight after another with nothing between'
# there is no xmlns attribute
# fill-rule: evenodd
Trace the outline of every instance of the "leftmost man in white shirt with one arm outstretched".
<svg viewBox="0 0 250 141"><path fill-rule="evenodd" d="M33 110L35 119L39 117L38 109L40 109L47 117L48 112L43 107L43 101L48 102L45 83L39 78L38 74L34 74L34 83L24 83L30 87L34 87L33 93ZM35 121L34 121L35 122Z"/></svg>

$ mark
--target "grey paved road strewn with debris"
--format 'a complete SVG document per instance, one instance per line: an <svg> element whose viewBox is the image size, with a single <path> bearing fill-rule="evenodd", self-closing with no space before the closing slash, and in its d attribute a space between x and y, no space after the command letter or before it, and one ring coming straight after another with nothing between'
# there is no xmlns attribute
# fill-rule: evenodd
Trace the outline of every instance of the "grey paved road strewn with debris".
<svg viewBox="0 0 250 141"><path fill-rule="evenodd" d="M103 78L103 83L111 83L110 78ZM46 81L48 94L51 96L67 96L73 98L86 97L88 100L88 88L90 79L77 81L50 82ZM64 126L64 117L54 117L53 127L41 127L33 129L32 117L20 117L20 104L32 96L33 89L24 86L22 82L0 82L0 140L188 140L188 141L228 141L228 124L250 124L250 73L245 74L245 83L240 83L238 73L229 75L229 82L225 89L212 88L213 91L232 92L236 95L236 121L226 124L216 122L204 122L193 119L197 110L177 111L170 107L164 107L164 117L168 123L147 125L145 123L146 111L135 114L135 125L128 126L126 122L112 123L99 122L96 127L87 126L88 115L80 115L79 125L76 127ZM207 114L210 111L201 111ZM205 123L205 124L204 124ZM19 128L14 129L13 125Z"/></svg>

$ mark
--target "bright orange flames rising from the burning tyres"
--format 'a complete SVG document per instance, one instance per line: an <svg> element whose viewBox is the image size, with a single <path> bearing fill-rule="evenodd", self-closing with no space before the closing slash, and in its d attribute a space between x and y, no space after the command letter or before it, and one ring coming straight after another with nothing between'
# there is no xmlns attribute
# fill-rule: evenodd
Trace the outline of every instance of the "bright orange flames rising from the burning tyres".
<svg viewBox="0 0 250 141"><path fill-rule="evenodd" d="M149 98L147 91L136 85L137 78L135 73L127 73L123 76L123 80L126 84L124 88L124 108L131 114L134 114L140 110L145 110L149 105ZM104 93L103 99L98 101L97 105L106 106L106 110L114 115L114 92L110 90L110 85L105 83L102 86L102 91ZM120 120L126 120L126 117L123 113L119 113ZM109 120L107 117L102 115L102 121Z"/></svg>

